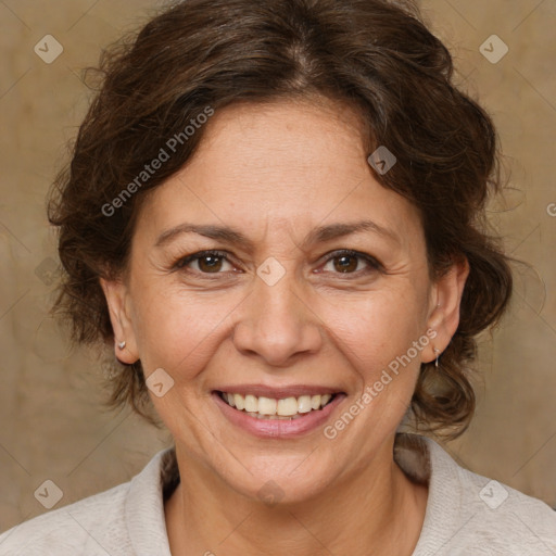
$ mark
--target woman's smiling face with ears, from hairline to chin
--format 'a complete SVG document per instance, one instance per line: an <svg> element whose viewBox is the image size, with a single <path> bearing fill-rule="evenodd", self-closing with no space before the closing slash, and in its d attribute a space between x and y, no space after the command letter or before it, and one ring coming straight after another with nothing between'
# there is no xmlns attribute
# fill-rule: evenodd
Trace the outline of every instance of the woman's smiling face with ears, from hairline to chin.
<svg viewBox="0 0 556 556"><path fill-rule="evenodd" d="M192 472L308 500L391 465L465 271L431 282L419 215L374 178L349 110L235 105L206 125L143 204L126 278L102 281L117 355L140 358Z"/></svg>

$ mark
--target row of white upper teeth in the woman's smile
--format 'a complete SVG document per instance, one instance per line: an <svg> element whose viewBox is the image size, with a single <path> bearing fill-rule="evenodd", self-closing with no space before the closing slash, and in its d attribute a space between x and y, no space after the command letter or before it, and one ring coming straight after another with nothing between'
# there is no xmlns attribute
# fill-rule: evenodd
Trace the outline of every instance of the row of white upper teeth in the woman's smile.
<svg viewBox="0 0 556 556"><path fill-rule="evenodd" d="M258 415L279 415L290 417L296 414L320 409L332 399L331 394L300 395L299 397L285 397L274 400L271 397L255 396L252 394L223 393L223 397L229 405L248 413Z"/></svg>

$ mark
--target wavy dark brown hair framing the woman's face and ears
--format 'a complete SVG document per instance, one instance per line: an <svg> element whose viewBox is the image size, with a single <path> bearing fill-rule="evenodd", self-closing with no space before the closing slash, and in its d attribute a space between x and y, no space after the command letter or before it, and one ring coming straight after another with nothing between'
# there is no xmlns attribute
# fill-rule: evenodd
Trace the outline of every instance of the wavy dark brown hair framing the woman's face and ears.
<svg viewBox="0 0 556 556"><path fill-rule="evenodd" d="M70 318L75 341L114 341L99 278L125 270L141 202L191 159L203 127L114 202L168 138L207 106L326 97L361 114L369 153L395 153L376 178L418 208L431 277L469 262L457 331L439 368L421 365L412 401L429 431L455 438L467 428L475 338L498 321L511 293L508 258L484 220L489 194L501 189L501 154L490 116L454 85L451 54L413 3L184 0L104 51L98 72L49 205L65 269L54 311ZM140 362L111 380L112 403L151 417Z"/></svg>

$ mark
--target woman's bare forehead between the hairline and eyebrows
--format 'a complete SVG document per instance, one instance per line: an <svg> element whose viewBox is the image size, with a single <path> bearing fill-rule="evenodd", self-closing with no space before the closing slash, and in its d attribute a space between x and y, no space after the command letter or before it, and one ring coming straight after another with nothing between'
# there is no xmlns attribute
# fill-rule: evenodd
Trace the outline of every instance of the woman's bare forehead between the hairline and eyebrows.
<svg viewBox="0 0 556 556"><path fill-rule="evenodd" d="M256 240L367 218L401 237L420 235L416 208L375 179L363 125L345 105L230 105L204 131L195 155L143 206L139 228L150 236L187 220L240 227Z"/></svg>

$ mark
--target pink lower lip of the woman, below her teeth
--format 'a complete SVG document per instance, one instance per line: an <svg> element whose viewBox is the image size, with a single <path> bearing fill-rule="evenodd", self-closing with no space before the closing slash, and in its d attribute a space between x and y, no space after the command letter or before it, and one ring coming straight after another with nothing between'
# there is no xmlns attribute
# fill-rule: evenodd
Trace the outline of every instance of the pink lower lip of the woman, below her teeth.
<svg viewBox="0 0 556 556"><path fill-rule="evenodd" d="M295 438L313 432L315 429L325 425L330 414L345 397L345 394L336 394L334 399L328 405L325 405L323 409L311 410L302 417L289 420L257 419L228 405L217 392L213 392L212 395L224 416L227 417L232 425L240 427L255 437L266 439Z"/></svg>

